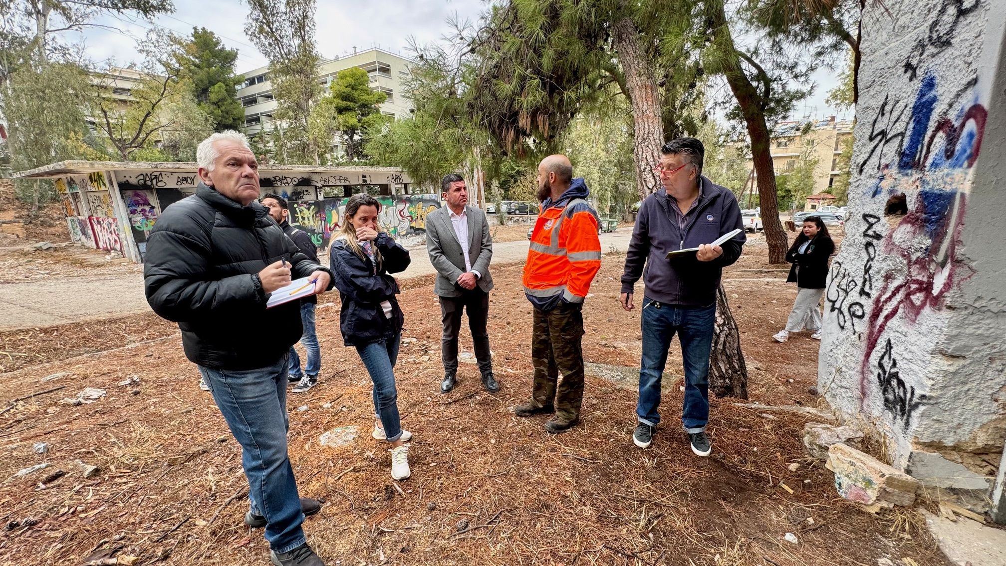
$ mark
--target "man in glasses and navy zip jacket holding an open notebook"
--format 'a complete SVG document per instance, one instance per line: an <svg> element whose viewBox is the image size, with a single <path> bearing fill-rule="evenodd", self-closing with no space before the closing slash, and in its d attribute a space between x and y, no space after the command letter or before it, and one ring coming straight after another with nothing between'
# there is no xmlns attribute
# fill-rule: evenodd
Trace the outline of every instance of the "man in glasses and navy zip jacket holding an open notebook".
<svg viewBox="0 0 1006 566"><path fill-rule="evenodd" d="M704 153L702 142L694 138L678 138L661 148L658 170L663 188L646 197L639 208L622 276L626 310L635 308L633 287L641 275L646 287L633 442L641 448L653 442L654 428L660 422L660 381L677 332L685 371L681 420L692 451L699 456L708 456L712 450L705 425L716 289L722 268L737 261L744 243L740 207L733 193L702 176ZM741 230L722 246L709 245L734 229ZM667 258L668 252L688 248L698 248L698 252Z"/></svg>

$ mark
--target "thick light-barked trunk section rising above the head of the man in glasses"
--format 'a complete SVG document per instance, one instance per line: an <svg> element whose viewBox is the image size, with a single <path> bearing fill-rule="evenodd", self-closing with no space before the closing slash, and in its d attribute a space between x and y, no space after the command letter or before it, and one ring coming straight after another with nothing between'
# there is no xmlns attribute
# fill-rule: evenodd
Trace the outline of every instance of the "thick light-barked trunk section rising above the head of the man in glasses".
<svg viewBox="0 0 1006 566"><path fill-rule="evenodd" d="M653 63L639 42L636 24L624 17L615 22L612 30L632 104L635 126L632 153L636 162L636 188L642 200L660 188L660 176L653 170L660 164L660 148L664 145L660 92Z"/></svg>

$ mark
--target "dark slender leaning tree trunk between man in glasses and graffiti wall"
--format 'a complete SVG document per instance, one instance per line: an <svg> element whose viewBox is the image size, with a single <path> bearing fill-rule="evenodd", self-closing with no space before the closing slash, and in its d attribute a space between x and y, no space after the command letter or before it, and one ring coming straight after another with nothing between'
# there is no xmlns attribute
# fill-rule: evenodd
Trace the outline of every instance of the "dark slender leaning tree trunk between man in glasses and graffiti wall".
<svg viewBox="0 0 1006 566"><path fill-rule="evenodd" d="M747 136L751 142L751 160L754 162L754 174L758 178L759 202L762 206L762 226L765 230L765 239L769 244L769 263L786 263L786 251L788 243L786 232L783 231L783 223L779 221L779 197L776 188L776 171L772 165L772 154L769 152L771 144L771 134L769 126L765 122L765 105L770 96L769 89L771 82L765 72L758 67L758 64L746 57L746 60L760 73L764 84L765 92L759 94L751 85L750 80L744 75L740 66L741 54L733 44L730 30L726 23L726 12L722 2L714 2L715 7L710 10L713 28L716 33L723 37L723 44L728 49L724 58L724 77L726 83L733 93L733 97L740 107L740 112L744 117L744 124L747 126Z"/></svg>

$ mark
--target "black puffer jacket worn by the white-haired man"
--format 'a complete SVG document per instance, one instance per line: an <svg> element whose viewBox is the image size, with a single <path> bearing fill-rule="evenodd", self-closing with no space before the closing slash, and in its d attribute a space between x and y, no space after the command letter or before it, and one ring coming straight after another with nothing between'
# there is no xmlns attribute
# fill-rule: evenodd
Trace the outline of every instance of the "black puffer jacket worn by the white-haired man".
<svg viewBox="0 0 1006 566"><path fill-rule="evenodd" d="M241 206L202 183L164 209L147 239L147 302L178 322L185 356L200 366L275 364L301 337L300 303L267 309L258 273L286 259L292 277L328 271L305 256L258 202Z"/></svg>

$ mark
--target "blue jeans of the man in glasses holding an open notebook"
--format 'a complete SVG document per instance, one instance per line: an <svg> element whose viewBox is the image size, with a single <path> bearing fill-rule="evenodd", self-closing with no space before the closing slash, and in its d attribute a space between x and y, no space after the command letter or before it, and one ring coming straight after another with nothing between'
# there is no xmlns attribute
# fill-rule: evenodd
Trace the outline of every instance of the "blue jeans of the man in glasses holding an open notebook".
<svg viewBox="0 0 1006 566"><path fill-rule="evenodd" d="M685 370L685 401L681 423L685 431L702 432L709 421L709 350L716 322L716 303L676 307L643 299L643 361L639 370L639 422L660 422L660 380L667 365L671 338L678 333Z"/></svg>

